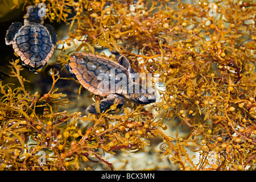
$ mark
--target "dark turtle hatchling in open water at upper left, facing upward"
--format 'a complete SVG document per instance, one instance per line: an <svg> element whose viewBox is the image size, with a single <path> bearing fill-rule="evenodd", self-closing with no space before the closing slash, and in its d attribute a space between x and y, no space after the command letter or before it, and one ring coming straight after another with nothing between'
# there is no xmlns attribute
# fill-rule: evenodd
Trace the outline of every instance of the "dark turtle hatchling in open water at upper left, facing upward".
<svg viewBox="0 0 256 182"><path fill-rule="evenodd" d="M44 17L39 16L39 10L38 6L28 7L24 25L14 22L5 36L6 45L13 44L23 67L34 73L47 64L57 43L54 28L43 25Z"/></svg>

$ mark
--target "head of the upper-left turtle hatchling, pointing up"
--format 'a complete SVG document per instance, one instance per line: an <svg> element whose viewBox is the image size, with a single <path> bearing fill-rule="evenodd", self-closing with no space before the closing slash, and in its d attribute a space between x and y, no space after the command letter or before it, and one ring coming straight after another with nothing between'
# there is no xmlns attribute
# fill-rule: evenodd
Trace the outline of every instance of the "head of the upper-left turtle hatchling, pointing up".
<svg viewBox="0 0 256 182"><path fill-rule="evenodd" d="M38 6L29 6L25 15L24 23L44 23L44 16Z"/></svg>

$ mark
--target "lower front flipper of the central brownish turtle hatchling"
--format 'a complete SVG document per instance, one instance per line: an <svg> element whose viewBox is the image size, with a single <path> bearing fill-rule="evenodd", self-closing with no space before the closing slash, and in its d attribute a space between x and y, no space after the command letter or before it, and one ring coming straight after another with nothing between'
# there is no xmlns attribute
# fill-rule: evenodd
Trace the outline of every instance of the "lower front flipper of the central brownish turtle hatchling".
<svg viewBox="0 0 256 182"><path fill-rule="evenodd" d="M110 94L108 97L100 101L100 112L104 113L106 110L110 109L110 107L114 104L117 104L116 109L120 109L123 106L123 104L125 104L125 99L122 96L119 96L118 94ZM114 110L110 110L108 111L108 113ZM92 114L100 114L96 109L95 103L89 105L86 109L86 112Z"/></svg>

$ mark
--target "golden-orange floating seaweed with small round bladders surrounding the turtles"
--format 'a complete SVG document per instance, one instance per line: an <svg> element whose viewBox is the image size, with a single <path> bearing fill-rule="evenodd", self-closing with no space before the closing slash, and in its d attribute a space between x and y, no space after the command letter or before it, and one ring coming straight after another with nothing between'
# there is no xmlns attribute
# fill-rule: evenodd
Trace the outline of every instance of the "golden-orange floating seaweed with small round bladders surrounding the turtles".
<svg viewBox="0 0 256 182"><path fill-rule="evenodd" d="M89 163L114 169L102 151L143 150L151 138L164 142L162 155L180 170L255 169L253 1L26 0L24 6L38 3L46 5L46 19L69 27L57 43L60 72L71 44L101 56L101 48L114 49L136 72L155 76L159 98L147 108L126 100L123 114L60 111L71 103L56 88L63 78L53 74L40 96L26 89L19 60L10 61L6 75L19 85L0 81L1 170L93 169ZM187 135L166 133L175 121L188 127Z"/></svg>

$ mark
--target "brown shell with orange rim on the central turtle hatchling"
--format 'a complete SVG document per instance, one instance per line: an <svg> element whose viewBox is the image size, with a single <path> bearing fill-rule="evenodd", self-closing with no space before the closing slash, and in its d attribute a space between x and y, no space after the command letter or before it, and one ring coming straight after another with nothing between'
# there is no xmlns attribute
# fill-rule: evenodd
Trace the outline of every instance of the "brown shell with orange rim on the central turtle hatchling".
<svg viewBox="0 0 256 182"><path fill-rule="evenodd" d="M127 91L125 84L129 79L129 72L122 65L106 57L84 52L73 53L67 68L84 88L94 94L106 97L111 93L123 95ZM118 76L126 78L122 86L118 86Z"/></svg>

